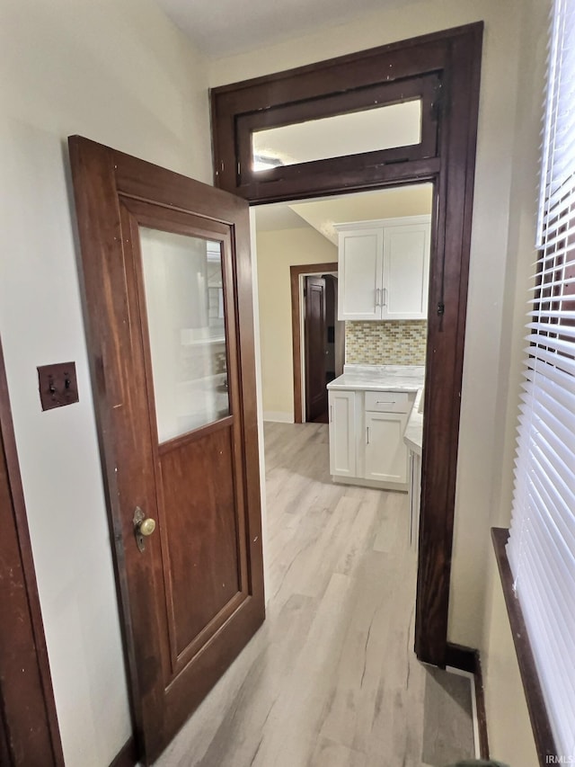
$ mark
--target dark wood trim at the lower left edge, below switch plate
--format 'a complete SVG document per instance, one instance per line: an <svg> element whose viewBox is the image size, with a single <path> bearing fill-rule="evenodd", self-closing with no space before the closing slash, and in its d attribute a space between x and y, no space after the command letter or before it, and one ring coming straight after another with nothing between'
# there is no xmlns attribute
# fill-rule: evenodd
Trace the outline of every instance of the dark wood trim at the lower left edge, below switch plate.
<svg viewBox="0 0 575 767"><path fill-rule="evenodd" d="M0 345L0 763L64 765Z"/></svg>

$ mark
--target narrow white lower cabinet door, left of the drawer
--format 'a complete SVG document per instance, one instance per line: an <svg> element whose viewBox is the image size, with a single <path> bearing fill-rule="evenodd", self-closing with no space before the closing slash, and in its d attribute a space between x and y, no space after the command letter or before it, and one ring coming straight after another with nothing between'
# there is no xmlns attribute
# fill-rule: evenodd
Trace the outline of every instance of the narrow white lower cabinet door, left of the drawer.
<svg viewBox="0 0 575 767"><path fill-rule="evenodd" d="M356 415L354 391L330 391L330 474L356 476Z"/></svg>

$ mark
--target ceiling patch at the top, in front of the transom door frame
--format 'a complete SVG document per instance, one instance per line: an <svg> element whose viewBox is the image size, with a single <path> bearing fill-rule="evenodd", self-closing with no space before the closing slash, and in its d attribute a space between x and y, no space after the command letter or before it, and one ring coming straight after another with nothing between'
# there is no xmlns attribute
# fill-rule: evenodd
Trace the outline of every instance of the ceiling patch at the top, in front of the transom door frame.
<svg viewBox="0 0 575 767"><path fill-rule="evenodd" d="M405 0L156 0L196 48L213 58L262 48Z"/></svg>

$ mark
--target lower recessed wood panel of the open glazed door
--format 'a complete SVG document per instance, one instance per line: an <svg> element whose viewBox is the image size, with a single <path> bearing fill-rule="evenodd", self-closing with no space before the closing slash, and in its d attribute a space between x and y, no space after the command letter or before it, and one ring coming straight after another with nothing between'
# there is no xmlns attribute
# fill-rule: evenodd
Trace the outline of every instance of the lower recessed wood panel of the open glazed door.
<svg viewBox="0 0 575 767"><path fill-rule="evenodd" d="M232 440L224 426L160 457L174 661L210 621L211 633L221 625L217 616L241 591Z"/></svg>

